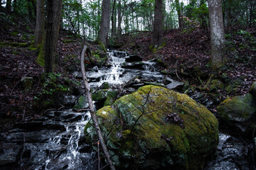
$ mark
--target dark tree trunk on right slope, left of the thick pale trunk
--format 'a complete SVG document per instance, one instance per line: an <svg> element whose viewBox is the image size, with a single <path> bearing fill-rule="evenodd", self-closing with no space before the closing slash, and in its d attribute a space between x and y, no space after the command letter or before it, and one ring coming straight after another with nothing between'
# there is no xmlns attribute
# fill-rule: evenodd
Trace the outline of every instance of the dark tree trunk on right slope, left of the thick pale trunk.
<svg viewBox="0 0 256 170"><path fill-rule="evenodd" d="M156 0L154 6L153 45L161 46L163 38L163 0Z"/></svg>

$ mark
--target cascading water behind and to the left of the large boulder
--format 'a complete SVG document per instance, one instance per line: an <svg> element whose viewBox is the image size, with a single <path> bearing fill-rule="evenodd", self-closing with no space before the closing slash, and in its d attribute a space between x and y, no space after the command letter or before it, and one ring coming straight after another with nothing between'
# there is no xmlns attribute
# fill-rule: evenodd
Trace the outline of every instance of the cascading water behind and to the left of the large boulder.
<svg viewBox="0 0 256 170"><path fill-rule="evenodd" d="M123 84L133 77L163 78L155 72L154 62L141 62L144 65L141 69L124 68L125 60L129 57L126 52L110 51L108 55L110 67L87 70L92 88L105 82ZM79 74L76 72L75 77ZM83 130L88 120L89 112L76 113L72 109L49 111L33 123L21 123L4 137L3 145L12 146L8 152L16 148L21 150L18 158L11 158L18 162L19 169L96 169L95 152L91 152L89 145L83 141Z"/></svg>

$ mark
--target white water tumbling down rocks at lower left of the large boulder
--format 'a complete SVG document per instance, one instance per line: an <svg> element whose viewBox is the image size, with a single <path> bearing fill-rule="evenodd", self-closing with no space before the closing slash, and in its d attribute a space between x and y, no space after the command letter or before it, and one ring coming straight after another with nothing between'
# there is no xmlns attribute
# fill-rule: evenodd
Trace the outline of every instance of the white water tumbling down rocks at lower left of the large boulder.
<svg viewBox="0 0 256 170"><path fill-rule="evenodd" d="M63 112L63 114L67 113L69 112ZM80 169L78 166L82 164L82 157L91 158L90 154L80 154L78 145L80 137L84 136L83 130L85 125L90 120L90 112L74 114L82 115L81 120L77 123L64 124L65 131L50 138L45 145L46 149L41 150L41 152L48 152L45 170L60 169L61 167L58 166L60 164L68 164L68 167L65 167L65 169ZM68 140L68 144L63 142L63 139ZM36 169L43 169L42 164L39 164Z"/></svg>

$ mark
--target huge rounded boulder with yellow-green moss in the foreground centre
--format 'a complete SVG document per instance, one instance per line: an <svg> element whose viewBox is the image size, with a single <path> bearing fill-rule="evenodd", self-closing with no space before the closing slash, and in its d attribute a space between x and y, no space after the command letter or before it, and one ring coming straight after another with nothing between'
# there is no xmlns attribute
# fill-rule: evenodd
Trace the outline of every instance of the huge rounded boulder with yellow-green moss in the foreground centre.
<svg viewBox="0 0 256 170"><path fill-rule="evenodd" d="M97 118L118 169L203 169L218 145L215 116L161 86L142 86L101 108ZM97 136L91 124L85 134L92 144Z"/></svg>

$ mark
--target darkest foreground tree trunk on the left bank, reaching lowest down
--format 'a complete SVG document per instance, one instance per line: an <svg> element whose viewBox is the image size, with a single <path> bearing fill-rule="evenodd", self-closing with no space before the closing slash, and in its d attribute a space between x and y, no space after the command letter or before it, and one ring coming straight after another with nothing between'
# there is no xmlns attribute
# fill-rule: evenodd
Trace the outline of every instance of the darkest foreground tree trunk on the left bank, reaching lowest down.
<svg viewBox="0 0 256 170"><path fill-rule="evenodd" d="M47 23L46 23L46 52L45 72L53 72L53 58L55 55L58 34L60 29L60 13L62 0L47 1Z"/></svg>

